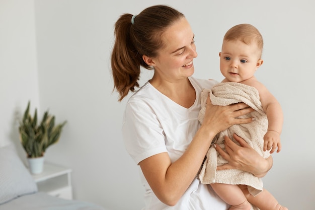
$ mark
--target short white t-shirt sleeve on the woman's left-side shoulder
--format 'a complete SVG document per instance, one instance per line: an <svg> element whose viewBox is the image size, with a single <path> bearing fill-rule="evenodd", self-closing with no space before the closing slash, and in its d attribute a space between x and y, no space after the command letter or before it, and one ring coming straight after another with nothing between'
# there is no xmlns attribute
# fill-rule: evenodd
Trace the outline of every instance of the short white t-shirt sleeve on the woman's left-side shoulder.
<svg viewBox="0 0 315 210"><path fill-rule="evenodd" d="M122 133L125 148L136 164L152 155L167 152L159 119L152 107L142 101L127 103Z"/></svg>

